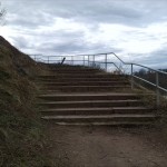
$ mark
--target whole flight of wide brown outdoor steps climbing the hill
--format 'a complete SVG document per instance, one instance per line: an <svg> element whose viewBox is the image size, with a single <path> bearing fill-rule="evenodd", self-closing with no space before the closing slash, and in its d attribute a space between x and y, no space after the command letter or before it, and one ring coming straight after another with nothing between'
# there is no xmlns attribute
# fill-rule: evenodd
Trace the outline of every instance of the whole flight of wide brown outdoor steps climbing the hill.
<svg viewBox="0 0 167 167"><path fill-rule="evenodd" d="M39 76L42 119L58 125L150 125L151 108L144 107L124 75L75 66L52 66Z"/></svg>

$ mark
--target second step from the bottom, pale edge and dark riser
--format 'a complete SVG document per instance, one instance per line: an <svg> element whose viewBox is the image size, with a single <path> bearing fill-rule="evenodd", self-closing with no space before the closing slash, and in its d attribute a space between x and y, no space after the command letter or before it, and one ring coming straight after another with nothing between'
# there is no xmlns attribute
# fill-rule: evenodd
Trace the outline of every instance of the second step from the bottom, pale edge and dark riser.
<svg viewBox="0 0 167 167"><path fill-rule="evenodd" d="M85 116L85 115L77 115L77 116L43 116L43 120L53 121L53 122L150 122L155 121L157 117L153 114L147 115L137 115L137 114L114 114L114 115L100 115L100 116Z"/></svg>

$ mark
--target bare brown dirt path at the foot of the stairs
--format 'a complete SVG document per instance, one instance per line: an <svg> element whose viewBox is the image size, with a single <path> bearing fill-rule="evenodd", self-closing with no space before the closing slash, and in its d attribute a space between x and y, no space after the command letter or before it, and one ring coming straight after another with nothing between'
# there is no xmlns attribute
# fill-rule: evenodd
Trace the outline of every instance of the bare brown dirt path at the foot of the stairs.
<svg viewBox="0 0 167 167"><path fill-rule="evenodd" d="M155 129L50 126L59 167L167 167Z"/></svg>

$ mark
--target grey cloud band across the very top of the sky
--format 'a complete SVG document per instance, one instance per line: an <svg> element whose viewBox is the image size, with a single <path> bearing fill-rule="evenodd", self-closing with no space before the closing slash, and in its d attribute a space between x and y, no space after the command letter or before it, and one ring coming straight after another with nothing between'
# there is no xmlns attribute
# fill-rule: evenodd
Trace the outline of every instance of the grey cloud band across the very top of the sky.
<svg viewBox="0 0 167 167"><path fill-rule="evenodd" d="M20 21L20 24L26 26L51 23L53 18L60 17L89 24L107 22L143 27L150 22L164 21L164 16L167 16L166 0L7 0L4 3L9 4L10 12L22 16L22 19L16 22ZM49 17L45 18L42 13Z"/></svg>

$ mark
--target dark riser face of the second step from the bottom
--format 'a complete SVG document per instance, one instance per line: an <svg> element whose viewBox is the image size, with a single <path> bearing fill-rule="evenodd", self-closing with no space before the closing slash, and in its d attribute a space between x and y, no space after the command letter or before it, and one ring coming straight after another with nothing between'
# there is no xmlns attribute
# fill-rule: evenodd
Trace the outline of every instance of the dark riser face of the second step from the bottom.
<svg viewBox="0 0 167 167"><path fill-rule="evenodd" d="M45 119L46 120L46 119ZM48 120L48 119L47 119ZM149 117L140 117L140 118L136 118L136 117L116 117L116 118L77 118L77 119L49 119L49 122L87 122L87 124L91 124L91 122L147 122L147 121L155 121L155 118L149 118Z"/></svg>

